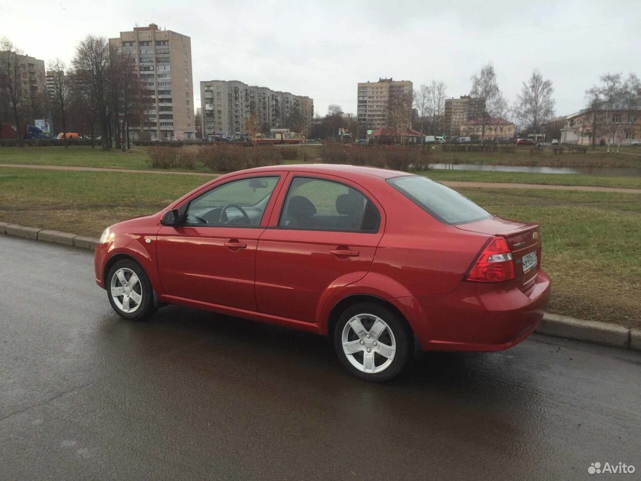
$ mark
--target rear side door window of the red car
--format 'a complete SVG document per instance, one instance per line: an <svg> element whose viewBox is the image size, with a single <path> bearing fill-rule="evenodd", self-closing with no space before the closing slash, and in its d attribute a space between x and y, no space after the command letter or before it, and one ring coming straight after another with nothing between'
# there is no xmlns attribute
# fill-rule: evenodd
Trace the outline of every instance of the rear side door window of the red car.
<svg viewBox="0 0 641 481"><path fill-rule="evenodd" d="M296 177L287 192L278 226L299 230L377 232L376 206L344 183Z"/></svg>

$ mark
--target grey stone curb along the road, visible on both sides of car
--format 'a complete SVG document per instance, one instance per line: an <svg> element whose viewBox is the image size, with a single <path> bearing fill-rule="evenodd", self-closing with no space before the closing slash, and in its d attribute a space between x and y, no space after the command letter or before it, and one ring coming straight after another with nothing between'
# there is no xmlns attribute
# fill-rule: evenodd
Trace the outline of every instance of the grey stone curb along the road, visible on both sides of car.
<svg viewBox="0 0 641 481"><path fill-rule="evenodd" d="M80 249L95 250L99 239L69 232L38 229L19 224L0 222L0 235L13 235L37 241L54 242ZM641 351L641 328L626 328L618 324L587 321L575 317L561 316L546 312L543 321L535 330L538 334L551 337L591 342L602 346Z"/></svg>

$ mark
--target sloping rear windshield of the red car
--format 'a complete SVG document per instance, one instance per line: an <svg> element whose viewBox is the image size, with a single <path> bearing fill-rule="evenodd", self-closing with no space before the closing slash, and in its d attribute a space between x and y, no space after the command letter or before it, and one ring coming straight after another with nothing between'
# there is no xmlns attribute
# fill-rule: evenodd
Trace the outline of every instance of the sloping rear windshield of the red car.
<svg viewBox="0 0 641 481"><path fill-rule="evenodd" d="M387 182L420 208L445 224L465 224L490 219L492 214L456 190L428 178L412 175L393 177Z"/></svg>

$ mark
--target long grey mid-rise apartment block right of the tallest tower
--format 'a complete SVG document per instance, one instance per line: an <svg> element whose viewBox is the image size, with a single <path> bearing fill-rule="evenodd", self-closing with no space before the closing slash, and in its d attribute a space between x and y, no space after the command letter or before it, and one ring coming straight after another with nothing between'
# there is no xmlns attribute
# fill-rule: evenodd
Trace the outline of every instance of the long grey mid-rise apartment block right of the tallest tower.
<svg viewBox="0 0 641 481"><path fill-rule="evenodd" d="M308 135L314 115L313 99L238 80L201 81L203 139L222 135L246 139L271 129L290 129Z"/></svg>

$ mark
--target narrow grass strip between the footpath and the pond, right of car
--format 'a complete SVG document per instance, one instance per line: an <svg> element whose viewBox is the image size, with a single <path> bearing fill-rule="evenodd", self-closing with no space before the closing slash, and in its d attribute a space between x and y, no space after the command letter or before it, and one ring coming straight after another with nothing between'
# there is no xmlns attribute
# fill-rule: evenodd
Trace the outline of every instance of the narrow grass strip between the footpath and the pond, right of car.
<svg viewBox="0 0 641 481"><path fill-rule="evenodd" d="M640 177L606 177L581 174L534 174L525 172L497 171L451 171L430 169L417 172L433 180L470 181L470 182L515 182L540 183L546 185L595 185L599 187L626 187L641 189Z"/></svg>

